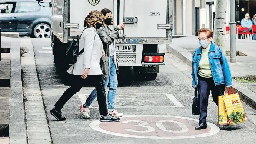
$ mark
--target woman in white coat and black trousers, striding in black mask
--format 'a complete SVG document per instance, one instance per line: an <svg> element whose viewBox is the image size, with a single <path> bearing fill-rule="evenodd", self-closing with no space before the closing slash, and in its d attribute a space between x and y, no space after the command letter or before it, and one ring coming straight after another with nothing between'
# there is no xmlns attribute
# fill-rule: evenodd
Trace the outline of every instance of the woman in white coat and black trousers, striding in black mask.
<svg viewBox="0 0 256 144"><path fill-rule="evenodd" d="M91 11L84 20L84 27L90 27L84 30L79 41L79 51L84 48L84 52L77 58L77 62L73 64L67 72L72 74L73 82L60 99L55 103L55 107L50 110L57 120L66 120L61 115L61 109L65 103L83 87L84 79L94 83L97 90L97 99L100 110L100 121L102 122L118 122L120 119L114 117L107 112L105 84L100 69L100 59L103 55L102 42L97 34L96 29L102 26L103 14L100 11Z"/></svg>

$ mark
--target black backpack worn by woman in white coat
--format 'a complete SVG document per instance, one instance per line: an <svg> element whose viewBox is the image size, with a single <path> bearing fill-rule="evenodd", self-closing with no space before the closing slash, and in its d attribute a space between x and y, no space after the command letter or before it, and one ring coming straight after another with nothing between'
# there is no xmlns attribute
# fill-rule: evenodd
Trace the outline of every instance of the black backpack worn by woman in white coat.
<svg viewBox="0 0 256 144"><path fill-rule="evenodd" d="M84 28L84 30L87 28L90 28L90 27L86 27L86 28ZM77 35L77 40L73 39L70 42L69 47L67 48L66 61L70 65L75 64L77 61L77 57L84 52L84 48L79 52L79 40L80 40L84 30L82 31L80 37ZM94 36L94 39L95 39L95 36Z"/></svg>

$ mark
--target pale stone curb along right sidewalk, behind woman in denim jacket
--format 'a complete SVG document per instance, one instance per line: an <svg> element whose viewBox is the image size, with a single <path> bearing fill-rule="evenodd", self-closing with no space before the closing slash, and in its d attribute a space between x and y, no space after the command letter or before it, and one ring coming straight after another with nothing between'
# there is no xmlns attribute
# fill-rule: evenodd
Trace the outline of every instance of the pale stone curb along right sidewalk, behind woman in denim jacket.
<svg viewBox="0 0 256 144"><path fill-rule="evenodd" d="M176 55L179 59L181 59L184 63L188 64L192 67L192 54L187 50L181 48L178 45L166 45L166 50ZM235 89L235 92L238 92L242 101L244 101L247 105L256 110L256 96L255 93L252 92L249 88L246 88L243 85L240 85L232 78L232 87Z"/></svg>

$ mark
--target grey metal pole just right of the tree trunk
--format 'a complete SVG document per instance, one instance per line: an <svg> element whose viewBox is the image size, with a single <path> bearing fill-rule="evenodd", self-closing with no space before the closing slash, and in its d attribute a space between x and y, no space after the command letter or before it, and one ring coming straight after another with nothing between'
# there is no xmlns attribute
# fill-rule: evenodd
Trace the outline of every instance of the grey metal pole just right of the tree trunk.
<svg viewBox="0 0 256 144"><path fill-rule="evenodd" d="M229 42L230 42L230 62L236 63L236 21L235 21L235 0L229 1L230 10L230 28L229 28Z"/></svg>

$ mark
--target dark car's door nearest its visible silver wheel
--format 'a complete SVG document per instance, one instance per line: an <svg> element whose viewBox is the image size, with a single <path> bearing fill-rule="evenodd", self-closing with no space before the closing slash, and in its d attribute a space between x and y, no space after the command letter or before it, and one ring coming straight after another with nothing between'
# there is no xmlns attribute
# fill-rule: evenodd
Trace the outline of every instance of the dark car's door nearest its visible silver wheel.
<svg viewBox="0 0 256 144"><path fill-rule="evenodd" d="M34 20L40 17L36 12L40 11L41 6L36 1L17 2L17 32L29 32Z"/></svg>

